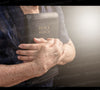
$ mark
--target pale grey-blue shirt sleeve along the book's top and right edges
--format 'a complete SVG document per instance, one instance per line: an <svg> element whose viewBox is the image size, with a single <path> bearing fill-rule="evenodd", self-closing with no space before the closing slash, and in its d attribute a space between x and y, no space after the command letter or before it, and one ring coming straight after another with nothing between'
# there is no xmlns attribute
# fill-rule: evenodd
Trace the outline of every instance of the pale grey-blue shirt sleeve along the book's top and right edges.
<svg viewBox="0 0 100 90"><path fill-rule="evenodd" d="M45 13L45 12L57 12L58 13L59 21L60 21L59 39L63 43L67 43L69 41L69 36L67 33L65 19L64 19L64 13L63 13L61 6L40 6L40 13Z"/></svg>

